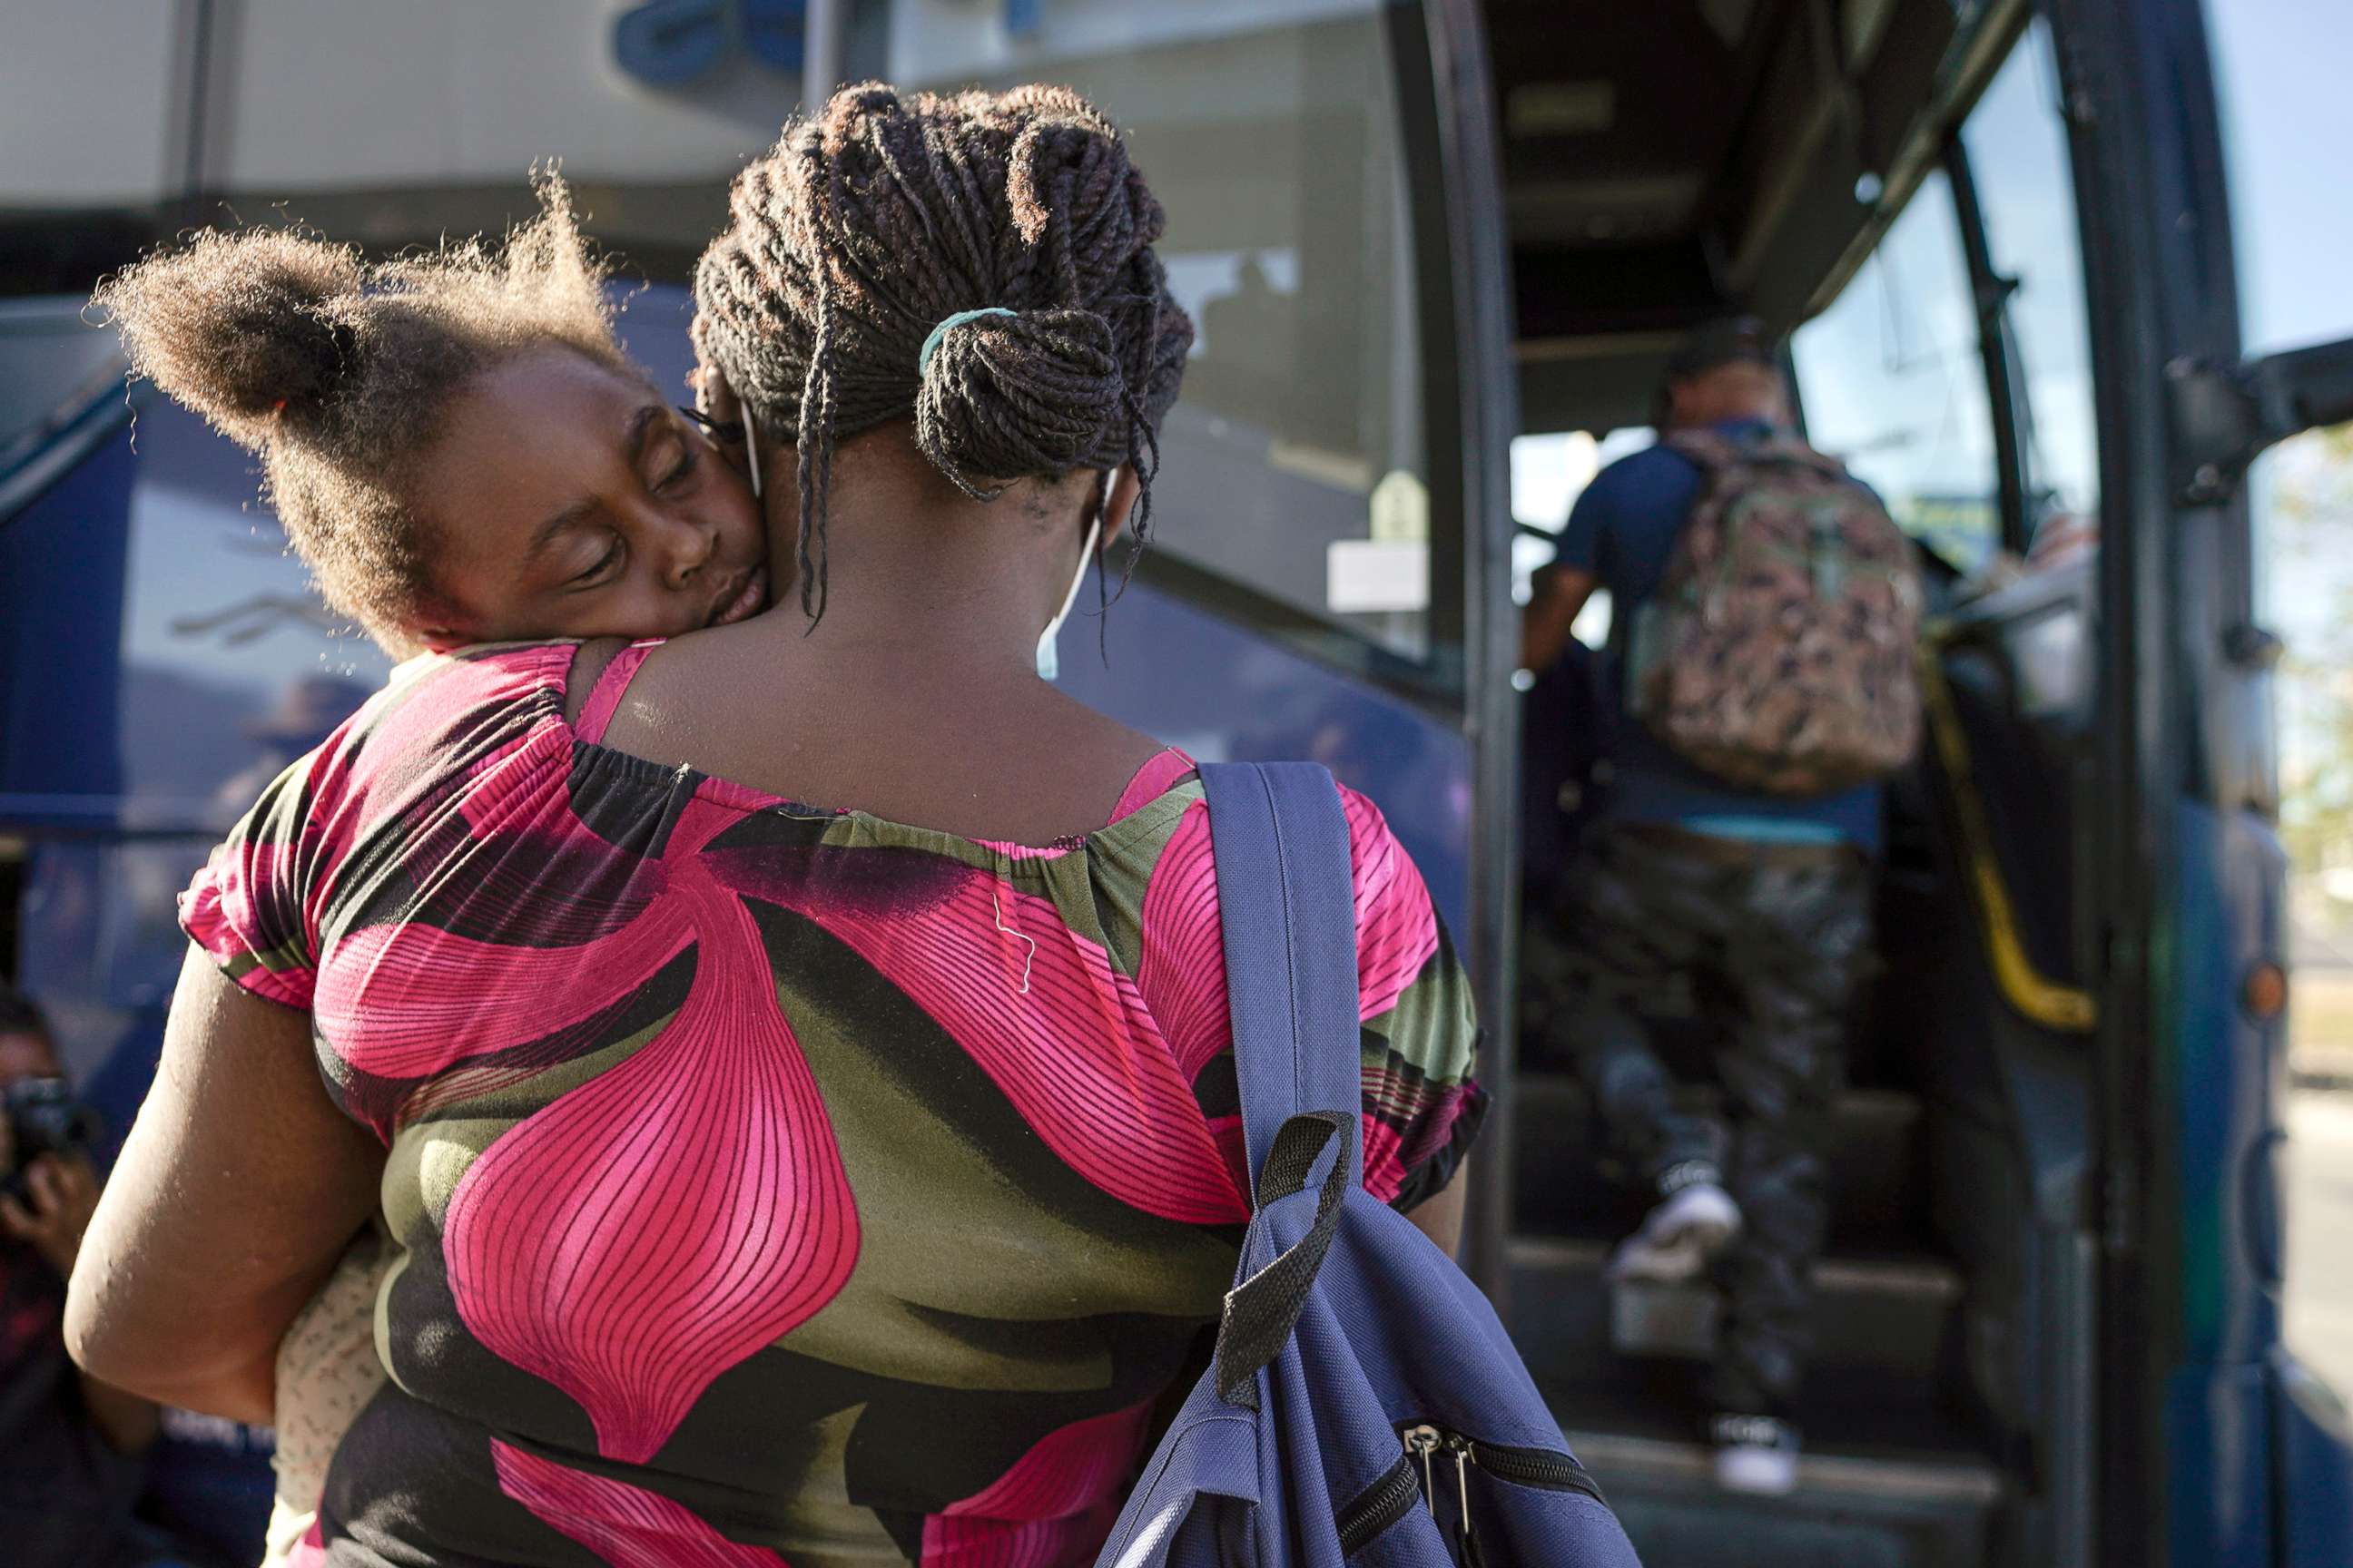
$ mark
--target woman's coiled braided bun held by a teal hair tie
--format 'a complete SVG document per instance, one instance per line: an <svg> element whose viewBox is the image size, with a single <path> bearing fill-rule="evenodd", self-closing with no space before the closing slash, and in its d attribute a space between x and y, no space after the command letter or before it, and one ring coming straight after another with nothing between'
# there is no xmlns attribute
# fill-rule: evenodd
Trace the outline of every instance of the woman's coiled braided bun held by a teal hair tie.
<svg viewBox="0 0 2353 1568"><path fill-rule="evenodd" d="M1113 468L1127 461L1127 383L1113 348L1111 322L1094 310L958 320L922 367L915 444L976 501L1014 480Z"/></svg>

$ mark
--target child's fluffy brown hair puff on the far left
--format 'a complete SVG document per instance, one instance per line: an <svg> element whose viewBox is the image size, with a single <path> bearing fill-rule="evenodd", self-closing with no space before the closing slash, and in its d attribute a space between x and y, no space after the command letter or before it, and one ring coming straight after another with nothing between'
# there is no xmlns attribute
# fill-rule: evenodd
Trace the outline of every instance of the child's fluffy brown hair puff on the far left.
<svg viewBox="0 0 2353 1568"><path fill-rule="evenodd" d="M132 369L219 430L264 447L278 414L318 409L351 371L355 252L282 228L202 233L94 296Z"/></svg>

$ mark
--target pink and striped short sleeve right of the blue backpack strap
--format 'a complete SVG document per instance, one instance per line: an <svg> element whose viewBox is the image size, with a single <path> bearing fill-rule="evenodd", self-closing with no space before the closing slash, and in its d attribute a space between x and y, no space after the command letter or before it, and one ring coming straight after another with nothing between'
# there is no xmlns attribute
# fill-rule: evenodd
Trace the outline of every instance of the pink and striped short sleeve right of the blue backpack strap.
<svg viewBox="0 0 2353 1568"><path fill-rule="evenodd" d="M1355 790L1341 790L1341 804L1355 884L1365 1187L1409 1211L1454 1180L1487 1114L1473 1077L1478 1011L1421 870L1379 806Z"/></svg>

